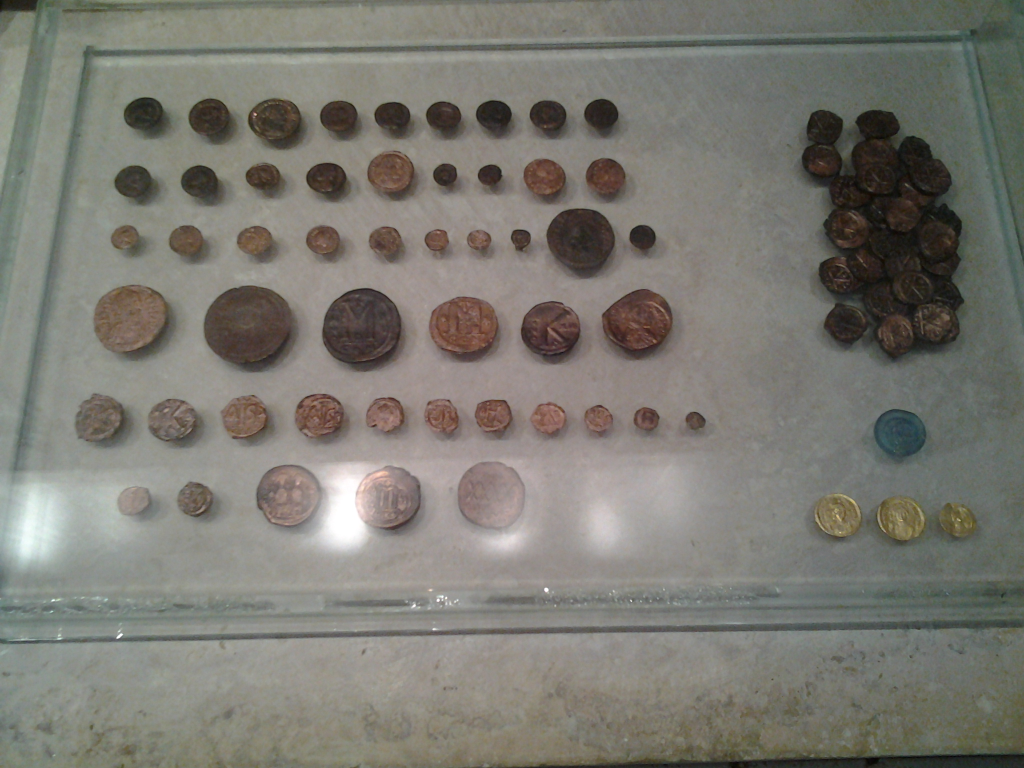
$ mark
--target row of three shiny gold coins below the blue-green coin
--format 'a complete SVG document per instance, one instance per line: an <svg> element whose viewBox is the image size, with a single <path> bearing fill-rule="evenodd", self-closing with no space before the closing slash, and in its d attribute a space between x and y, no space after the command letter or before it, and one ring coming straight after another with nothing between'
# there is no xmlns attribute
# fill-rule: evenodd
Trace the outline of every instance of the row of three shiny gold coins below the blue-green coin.
<svg viewBox="0 0 1024 768"><path fill-rule="evenodd" d="M913 499L894 496L879 505L876 515L886 536L908 542L925 532L925 510ZM814 505L814 521L828 536L845 538L860 529L860 507L848 496L829 494ZM963 539L977 527L974 513L963 504L946 504L939 512L939 525L952 537Z"/></svg>

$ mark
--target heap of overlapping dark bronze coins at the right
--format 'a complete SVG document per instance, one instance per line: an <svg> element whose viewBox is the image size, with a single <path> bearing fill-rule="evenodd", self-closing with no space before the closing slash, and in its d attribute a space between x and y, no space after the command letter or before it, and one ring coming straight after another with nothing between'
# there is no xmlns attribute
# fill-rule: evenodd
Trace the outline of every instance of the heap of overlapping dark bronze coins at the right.
<svg viewBox="0 0 1024 768"><path fill-rule="evenodd" d="M878 321L874 336L890 357L914 343L948 344L959 335L956 310L964 303L950 280L959 265L959 217L937 205L952 179L922 138L890 141L900 124L891 112L870 110L857 118L863 140L853 147L853 174L844 175L835 143L843 119L824 110L811 115L803 154L808 173L830 179L835 210L825 219L828 239L844 253L818 266L831 293L862 294L865 313L838 303L825 330L844 344L864 335L868 314Z"/></svg>

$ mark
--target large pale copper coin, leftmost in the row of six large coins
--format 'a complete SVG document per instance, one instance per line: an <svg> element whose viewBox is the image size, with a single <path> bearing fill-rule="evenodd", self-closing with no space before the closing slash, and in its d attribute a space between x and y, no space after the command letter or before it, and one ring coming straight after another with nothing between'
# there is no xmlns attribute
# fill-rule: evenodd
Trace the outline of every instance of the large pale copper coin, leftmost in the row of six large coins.
<svg viewBox="0 0 1024 768"><path fill-rule="evenodd" d="M96 302L92 327L112 352L132 352L151 344L167 324L167 302L145 286L115 288Z"/></svg>

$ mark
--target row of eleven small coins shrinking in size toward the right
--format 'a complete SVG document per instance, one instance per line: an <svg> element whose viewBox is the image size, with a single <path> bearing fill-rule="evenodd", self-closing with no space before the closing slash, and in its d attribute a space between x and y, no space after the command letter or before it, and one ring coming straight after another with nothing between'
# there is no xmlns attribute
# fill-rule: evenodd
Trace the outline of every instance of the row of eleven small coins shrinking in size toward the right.
<svg viewBox="0 0 1024 768"><path fill-rule="evenodd" d="M484 432L504 432L512 424L512 409L506 400L483 400L476 404L476 424ZM267 410L254 394L233 398L220 412L224 430L236 439L259 434L267 423ZM310 394L295 408L295 426L306 437L324 437L337 432L345 419L345 409L330 394ZM459 428L459 411L447 399L427 403L423 419L438 434L452 434ZM611 412L604 406L593 406L584 414L587 429L596 434L607 432L612 424ZM87 442L100 442L114 437L124 422L124 407L105 394L93 394L78 408L75 432ZM406 422L406 411L394 397L378 397L367 409L367 426L382 432L392 432ZM652 408L641 408L633 415L633 424L646 432L657 428L660 417ZM199 424L196 409L184 400L169 398L150 411L146 423L154 437L166 442L184 439ZM553 435L565 427L565 411L554 402L542 402L529 417L537 431ZM689 429L702 429L705 418L691 412L686 415Z"/></svg>

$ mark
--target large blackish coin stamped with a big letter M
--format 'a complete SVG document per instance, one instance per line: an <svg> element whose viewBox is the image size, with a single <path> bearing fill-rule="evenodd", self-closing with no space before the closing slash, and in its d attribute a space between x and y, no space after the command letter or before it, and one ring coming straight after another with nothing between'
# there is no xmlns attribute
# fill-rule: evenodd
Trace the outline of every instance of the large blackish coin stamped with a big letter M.
<svg viewBox="0 0 1024 768"><path fill-rule="evenodd" d="M343 294L324 316L324 345L342 362L375 360L390 352L400 335L398 308L372 288Z"/></svg>

